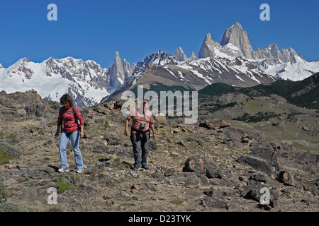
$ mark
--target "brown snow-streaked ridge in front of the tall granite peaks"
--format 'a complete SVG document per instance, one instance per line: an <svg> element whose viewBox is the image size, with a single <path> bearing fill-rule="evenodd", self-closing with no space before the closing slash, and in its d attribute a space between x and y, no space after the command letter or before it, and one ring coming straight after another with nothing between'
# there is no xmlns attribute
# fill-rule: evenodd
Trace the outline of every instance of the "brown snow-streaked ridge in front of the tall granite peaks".
<svg viewBox="0 0 319 226"><path fill-rule="evenodd" d="M121 99L125 90L133 90L137 85L150 89L164 85L166 87L183 87L186 90L200 90L212 83L247 87L261 83L272 83L276 77L269 76L262 69L245 57L206 57L196 58L192 54L185 61L178 60L183 56L181 48L175 56L159 50L138 63L135 71L125 83L111 93L106 100ZM163 88L163 86L162 86ZM175 89L175 88L174 88Z"/></svg>

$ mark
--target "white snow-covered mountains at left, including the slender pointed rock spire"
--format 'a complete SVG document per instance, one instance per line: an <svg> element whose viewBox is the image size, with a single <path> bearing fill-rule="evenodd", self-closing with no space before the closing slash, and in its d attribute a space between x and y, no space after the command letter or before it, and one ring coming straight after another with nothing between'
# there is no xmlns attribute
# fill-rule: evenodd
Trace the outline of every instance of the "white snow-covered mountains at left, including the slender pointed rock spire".
<svg viewBox="0 0 319 226"><path fill-rule="evenodd" d="M8 69L0 67L0 90L6 93L36 90L45 100L59 101L68 93L78 107L98 104L101 99L120 87L130 74L130 64L116 53L111 69L103 69L95 61L82 61L67 57L46 59L34 63L26 58L18 60Z"/></svg>

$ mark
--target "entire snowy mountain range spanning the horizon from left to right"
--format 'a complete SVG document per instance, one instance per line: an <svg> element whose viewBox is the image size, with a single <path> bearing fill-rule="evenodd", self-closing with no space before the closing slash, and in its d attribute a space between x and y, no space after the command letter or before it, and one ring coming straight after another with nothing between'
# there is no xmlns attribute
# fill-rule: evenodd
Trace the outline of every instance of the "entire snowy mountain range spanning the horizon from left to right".
<svg viewBox="0 0 319 226"><path fill-rule="evenodd" d="M145 88L174 87L201 90L213 83L251 87L278 80L301 81L319 71L319 61L308 62L295 50L269 44L252 49L240 23L225 30L220 43L207 34L198 57L186 57L181 47L174 56L159 50L138 64L116 59L103 69L95 61L67 57L33 63L26 58L5 69L0 64L0 90L6 93L37 90L45 100L59 100L64 93L74 97L78 107L121 98L137 85Z"/></svg>

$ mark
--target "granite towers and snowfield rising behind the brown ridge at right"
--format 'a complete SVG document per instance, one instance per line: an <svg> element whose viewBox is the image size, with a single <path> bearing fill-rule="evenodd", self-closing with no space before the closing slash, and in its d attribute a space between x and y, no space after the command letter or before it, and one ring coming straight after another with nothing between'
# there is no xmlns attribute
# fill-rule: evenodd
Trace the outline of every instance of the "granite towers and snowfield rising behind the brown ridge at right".
<svg viewBox="0 0 319 226"><path fill-rule="evenodd" d="M308 62L294 49L282 49L269 44L264 49L252 50L247 32L240 23L226 29L220 43L213 41L207 34L198 54L199 58L213 57L216 59L243 57L259 67L270 76L300 81L319 71L319 62Z"/></svg>

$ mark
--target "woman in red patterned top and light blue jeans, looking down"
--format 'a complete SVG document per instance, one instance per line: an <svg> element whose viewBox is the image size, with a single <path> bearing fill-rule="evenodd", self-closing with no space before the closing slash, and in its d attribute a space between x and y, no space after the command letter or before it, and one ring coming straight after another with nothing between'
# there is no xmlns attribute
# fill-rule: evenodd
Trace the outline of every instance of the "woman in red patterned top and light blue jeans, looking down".
<svg viewBox="0 0 319 226"><path fill-rule="evenodd" d="M77 165L77 172L83 172L84 165L82 160L82 153L79 149L79 138L84 137L84 120L79 112L79 109L75 107L75 114L73 114L73 100L72 97L65 94L60 98L60 103L63 105L59 109L59 117L57 118L57 133L55 137L59 136L60 127L63 124L62 134L60 138L60 157L61 167L59 172L69 172L69 164L67 163L67 143L71 140L72 148L75 157L75 163ZM79 122L78 122L79 121Z"/></svg>

